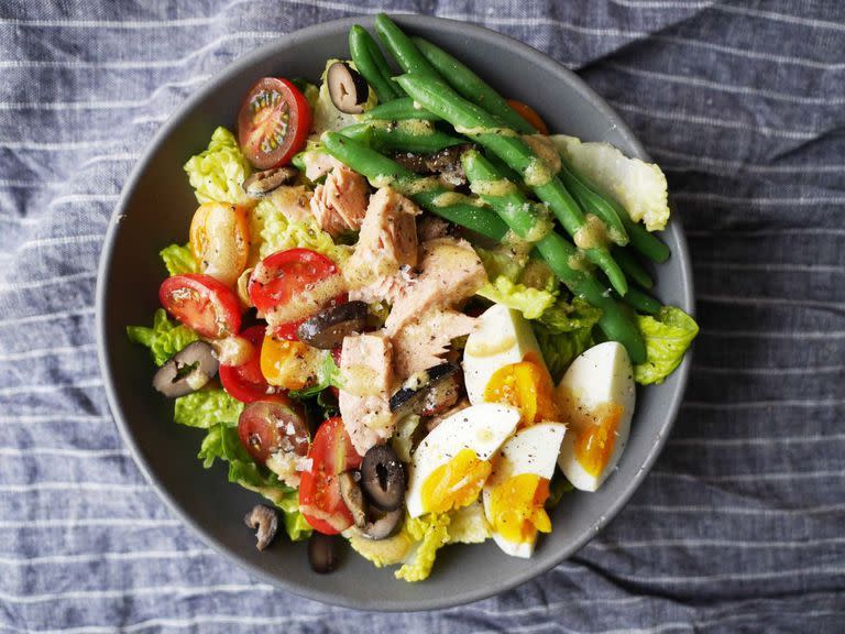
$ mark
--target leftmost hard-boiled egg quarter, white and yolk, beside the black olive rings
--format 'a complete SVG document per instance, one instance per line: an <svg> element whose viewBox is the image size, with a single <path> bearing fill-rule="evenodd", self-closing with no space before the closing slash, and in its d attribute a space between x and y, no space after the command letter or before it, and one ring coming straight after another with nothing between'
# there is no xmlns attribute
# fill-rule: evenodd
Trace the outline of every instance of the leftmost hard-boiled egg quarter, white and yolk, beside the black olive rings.
<svg viewBox="0 0 845 634"><path fill-rule="evenodd" d="M408 514L446 513L474 502L493 469L490 457L518 423L518 409L493 403L467 407L441 422L411 458Z"/></svg>

